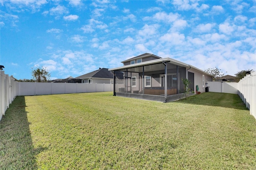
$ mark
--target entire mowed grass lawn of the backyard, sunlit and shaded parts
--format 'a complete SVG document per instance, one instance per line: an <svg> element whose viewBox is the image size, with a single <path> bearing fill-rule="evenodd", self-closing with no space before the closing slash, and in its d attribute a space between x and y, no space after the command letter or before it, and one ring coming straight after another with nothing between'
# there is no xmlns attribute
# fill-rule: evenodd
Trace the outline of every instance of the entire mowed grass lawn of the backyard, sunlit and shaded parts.
<svg viewBox="0 0 256 170"><path fill-rule="evenodd" d="M110 92L16 97L0 169L256 169L256 120L238 95L160 103Z"/></svg>

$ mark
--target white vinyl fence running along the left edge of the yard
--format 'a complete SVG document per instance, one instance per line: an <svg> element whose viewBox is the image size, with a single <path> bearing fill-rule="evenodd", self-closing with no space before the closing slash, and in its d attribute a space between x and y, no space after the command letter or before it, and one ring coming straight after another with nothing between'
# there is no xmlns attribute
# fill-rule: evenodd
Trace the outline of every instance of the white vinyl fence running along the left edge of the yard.
<svg viewBox="0 0 256 170"><path fill-rule="evenodd" d="M17 86L18 82L14 81L8 74L4 74L4 71L0 71L0 121L6 109L16 97Z"/></svg>

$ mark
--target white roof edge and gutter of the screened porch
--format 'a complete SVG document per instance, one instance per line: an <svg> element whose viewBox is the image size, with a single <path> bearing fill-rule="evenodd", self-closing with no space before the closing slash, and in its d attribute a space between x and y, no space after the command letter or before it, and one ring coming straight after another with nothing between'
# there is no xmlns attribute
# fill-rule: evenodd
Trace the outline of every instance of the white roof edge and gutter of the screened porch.
<svg viewBox="0 0 256 170"><path fill-rule="evenodd" d="M172 58L169 58L169 57L168 58L154 59L154 60L145 61L145 62L136 63L136 64L124 65L122 67L116 67L116 68L108 69L108 71L126 71L126 69L130 69L130 68L141 67L141 66L145 66L145 65L153 65L153 64L163 63L163 62L171 63L171 64L178 65L178 66L181 66L181 67L186 67L186 69L192 68L196 71L204 73L205 75L213 77L212 75L210 75L209 73L206 73L205 71L203 71L201 69L198 69L198 68L196 68L192 65L188 65L186 63L183 63L181 61L178 61L176 59L172 59Z"/></svg>

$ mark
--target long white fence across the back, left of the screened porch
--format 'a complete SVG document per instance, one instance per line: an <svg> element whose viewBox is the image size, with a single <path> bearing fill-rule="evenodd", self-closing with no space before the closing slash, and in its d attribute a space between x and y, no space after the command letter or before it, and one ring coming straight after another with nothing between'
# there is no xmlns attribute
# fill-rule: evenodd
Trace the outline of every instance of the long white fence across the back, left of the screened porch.
<svg viewBox="0 0 256 170"><path fill-rule="evenodd" d="M113 91L113 84L94 83L18 83L18 96L54 95Z"/></svg>

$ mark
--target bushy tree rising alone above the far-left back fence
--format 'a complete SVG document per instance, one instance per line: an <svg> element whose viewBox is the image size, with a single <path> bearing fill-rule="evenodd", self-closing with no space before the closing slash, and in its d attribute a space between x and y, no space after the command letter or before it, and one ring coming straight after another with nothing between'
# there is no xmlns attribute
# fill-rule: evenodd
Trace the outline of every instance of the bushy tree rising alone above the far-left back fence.
<svg viewBox="0 0 256 170"><path fill-rule="evenodd" d="M35 82L46 82L49 80L50 76L51 75L46 68L37 67L32 70L32 77Z"/></svg>

